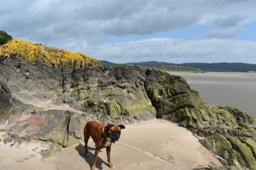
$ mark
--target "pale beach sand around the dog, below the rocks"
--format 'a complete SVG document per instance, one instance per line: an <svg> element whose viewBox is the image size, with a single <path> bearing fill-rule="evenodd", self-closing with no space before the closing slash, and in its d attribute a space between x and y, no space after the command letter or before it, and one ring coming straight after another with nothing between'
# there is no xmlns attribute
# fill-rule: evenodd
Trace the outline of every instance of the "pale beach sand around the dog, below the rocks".
<svg viewBox="0 0 256 170"><path fill-rule="evenodd" d="M39 141L22 142L20 146L16 143L12 147L10 144L0 142L0 170L90 170L95 150L90 139L89 157L84 156L84 143L80 143L42 160L39 152L45 146ZM120 144L111 147L111 159L115 170L189 170L222 166L191 132L159 119L126 125ZM109 169L105 149L98 154L96 167Z"/></svg>

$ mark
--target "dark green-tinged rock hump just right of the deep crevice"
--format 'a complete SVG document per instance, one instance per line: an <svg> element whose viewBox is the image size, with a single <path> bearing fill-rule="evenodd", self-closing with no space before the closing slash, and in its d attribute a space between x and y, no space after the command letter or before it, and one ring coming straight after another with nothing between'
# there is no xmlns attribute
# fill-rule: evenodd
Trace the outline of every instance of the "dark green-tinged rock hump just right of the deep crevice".
<svg viewBox="0 0 256 170"><path fill-rule="evenodd" d="M186 128L209 124L212 113L197 91L185 79L164 71L148 69L145 88L157 110L157 117L179 123Z"/></svg>

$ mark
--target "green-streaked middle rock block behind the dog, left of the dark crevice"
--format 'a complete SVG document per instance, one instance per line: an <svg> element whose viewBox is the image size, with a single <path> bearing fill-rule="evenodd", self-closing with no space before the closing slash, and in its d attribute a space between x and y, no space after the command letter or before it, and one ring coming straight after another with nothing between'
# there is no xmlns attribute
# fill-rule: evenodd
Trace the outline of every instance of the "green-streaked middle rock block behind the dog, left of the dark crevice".
<svg viewBox="0 0 256 170"><path fill-rule="evenodd" d="M145 77L140 67L76 69L72 73L71 99L66 102L97 116L133 118L144 114L152 119L156 110L144 90Z"/></svg>

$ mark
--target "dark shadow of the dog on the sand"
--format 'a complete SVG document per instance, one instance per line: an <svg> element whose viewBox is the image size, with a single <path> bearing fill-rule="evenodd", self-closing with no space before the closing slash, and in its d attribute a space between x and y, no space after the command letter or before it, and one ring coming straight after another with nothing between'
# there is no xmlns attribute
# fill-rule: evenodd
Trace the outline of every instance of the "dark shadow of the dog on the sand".
<svg viewBox="0 0 256 170"><path fill-rule="evenodd" d="M88 151L90 153L90 156L85 156L85 148L84 145L82 145L81 143L79 143L78 146L75 147L75 149L78 151L79 155L84 158L84 160L90 165L90 167L92 167L93 164L93 157L94 157L94 153L95 153L95 148L89 147L88 146ZM90 152L92 151L92 152ZM99 155L99 154L98 154ZM102 168L102 163L104 163L106 166L108 166L108 163L103 161L99 156L97 158L96 161L96 168L98 168L98 170L103 170Z"/></svg>

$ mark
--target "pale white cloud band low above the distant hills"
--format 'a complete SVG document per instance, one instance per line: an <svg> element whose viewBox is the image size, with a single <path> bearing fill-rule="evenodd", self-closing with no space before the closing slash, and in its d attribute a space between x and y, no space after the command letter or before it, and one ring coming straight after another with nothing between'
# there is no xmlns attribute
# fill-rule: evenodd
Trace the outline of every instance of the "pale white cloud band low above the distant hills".
<svg viewBox="0 0 256 170"><path fill-rule="evenodd" d="M93 58L113 63L164 61L168 63L242 62L256 64L255 47L254 41L154 38L115 43L114 46L107 44L80 49Z"/></svg>

